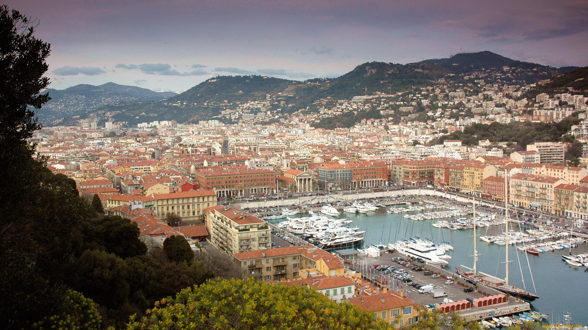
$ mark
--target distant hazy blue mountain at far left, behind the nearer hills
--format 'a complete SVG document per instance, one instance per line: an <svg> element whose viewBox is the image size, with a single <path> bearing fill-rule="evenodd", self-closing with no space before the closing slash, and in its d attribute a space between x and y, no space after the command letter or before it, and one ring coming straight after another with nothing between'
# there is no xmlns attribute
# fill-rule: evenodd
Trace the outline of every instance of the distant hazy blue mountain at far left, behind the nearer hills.
<svg viewBox="0 0 588 330"><path fill-rule="evenodd" d="M105 83L100 86L76 85L66 89L45 90L51 100L37 112L42 123L51 123L62 117L81 115L99 107L118 102L161 101L177 95L173 92L153 92L136 86Z"/></svg>

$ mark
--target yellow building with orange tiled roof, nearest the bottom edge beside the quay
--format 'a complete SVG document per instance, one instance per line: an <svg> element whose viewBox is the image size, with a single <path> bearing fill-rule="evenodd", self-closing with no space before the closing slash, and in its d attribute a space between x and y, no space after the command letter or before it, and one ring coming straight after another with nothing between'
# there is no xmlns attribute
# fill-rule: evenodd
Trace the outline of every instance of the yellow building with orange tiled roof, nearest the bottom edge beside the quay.
<svg viewBox="0 0 588 330"><path fill-rule="evenodd" d="M363 311L372 312L374 318L380 318L395 328L413 325L419 321L419 305L393 291L382 294L361 295L348 301Z"/></svg>

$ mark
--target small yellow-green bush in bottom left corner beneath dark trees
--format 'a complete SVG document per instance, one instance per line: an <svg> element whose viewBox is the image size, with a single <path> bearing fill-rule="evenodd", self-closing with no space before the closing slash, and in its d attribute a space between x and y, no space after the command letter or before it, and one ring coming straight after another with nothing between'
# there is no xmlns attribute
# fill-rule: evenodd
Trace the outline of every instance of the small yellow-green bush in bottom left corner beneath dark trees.
<svg viewBox="0 0 588 330"><path fill-rule="evenodd" d="M68 290L65 301L65 313L44 318L33 325L36 330L98 330L102 316L92 299L83 297L77 291Z"/></svg>

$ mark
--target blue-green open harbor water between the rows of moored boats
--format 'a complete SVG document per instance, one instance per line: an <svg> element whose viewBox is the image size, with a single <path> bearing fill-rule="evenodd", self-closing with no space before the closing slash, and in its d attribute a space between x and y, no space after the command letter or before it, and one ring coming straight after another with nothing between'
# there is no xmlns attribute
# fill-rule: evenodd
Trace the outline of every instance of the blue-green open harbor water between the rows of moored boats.
<svg viewBox="0 0 588 330"><path fill-rule="evenodd" d="M420 204L423 205L423 204ZM415 221L403 217L405 213L390 214L384 208L370 211L368 214L346 214L340 218L353 220L348 227L359 227L365 230L364 246L387 245L398 240L420 237L433 240L435 243L447 242L454 250L447 251L452 257L444 269L455 272L455 267L464 265L473 267L473 229L449 230L435 228L431 224L439 220ZM296 216L306 216L296 215ZM448 220L448 219L444 219ZM276 223L279 221L272 221ZM516 224L510 230L519 230ZM499 234L505 231L505 225L492 225L476 228L477 238L477 270L499 278L505 278L506 246L486 243L479 236ZM579 244L572 249L573 254L586 253L588 243ZM543 314L549 314L546 323L563 323L563 315L570 313L572 324L588 324L588 313L584 300L588 294L588 270L586 267L572 267L562 261L562 254L569 250L543 252L530 255L509 246L509 279L510 284L536 292L540 298L532 302L532 308ZM530 267L529 267L530 266Z"/></svg>

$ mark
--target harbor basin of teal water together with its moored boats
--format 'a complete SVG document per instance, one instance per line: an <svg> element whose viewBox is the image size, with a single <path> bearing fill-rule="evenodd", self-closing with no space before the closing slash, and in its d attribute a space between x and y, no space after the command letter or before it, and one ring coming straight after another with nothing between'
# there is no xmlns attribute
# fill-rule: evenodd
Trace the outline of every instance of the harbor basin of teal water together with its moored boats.
<svg viewBox="0 0 588 330"><path fill-rule="evenodd" d="M418 198L418 200L417 200ZM390 209L390 206L394 208L407 208L408 204L399 205L396 201L385 201L383 203L388 204L386 208L379 207L376 211L371 211L366 214L362 213L355 213L355 214L347 214L341 212L339 218L345 218L347 220L352 220L352 223L349 223L349 227L357 228L358 231L365 231L363 234L363 241L362 247L369 247L370 245L381 245L382 247L386 246L389 247L388 244L394 244L397 241L402 240L410 240L413 237L422 237L426 240L434 241L435 243L449 243L453 246L453 250L446 251L446 254L449 255L451 258L447 260L446 265L439 265L437 268L434 265L426 265L427 269L429 268L436 268L436 272L442 273L442 277L453 278L453 281L457 284L452 284L454 288L449 288L449 295L446 298L449 298L453 301L460 301L467 298L476 299L485 295L482 294L464 294L463 288L460 284L468 285L464 283L465 279L460 279L459 275L456 274L455 269L457 267L469 266L472 267L473 262L473 228L461 228L461 230L450 230L449 228L443 227L434 227L433 224L437 223L438 221L443 221L436 218L430 219L422 219L422 220L413 220L411 218L405 217L407 213L426 213L426 212L439 212L437 210L431 210L430 207L433 205L435 206L447 206L447 201L439 201L438 198L427 200L426 196L415 197L415 200L412 204L413 206L421 206L423 207L420 211L413 211L410 212L398 212L398 213L389 213L387 210ZM418 202L421 203L418 203ZM430 203L433 202L433 203ZM455 202L455 201L454 201ZM382 204L383 204L382 203ZM374 203L376 204L376 203ZM343 205L337 205L333 203L333 206L337 209L342 209ZM453 206L449 206L449 208L455 207L456 210L462 210L466 213L466 215L459 216L465 217L467 219L471 218L471 214L467 214L467 207L465 205L460 204L453 204ZM506 248L509 249L509 253L512 257L509 258L509 265L510 265L510 284L516 285L519 288L524 288L527 291L536 292L540 298L534 300L533 302L524 302L519 300L516 302L515 297L509 297L508 303L502 303L499 305L494 305L492 308L472 308L469 311L463 310L460 311L460 314L463 316L467 316L468 318L478 319L480 317L487 318L493 317L494 315L509 315L509 314L517 314L520 311L530 310L530 311L539 311L542 314L549 314L549 319L546 322L557 324L558 322L564 322L563 315L566 315L567 312L570 312L573 317L573 322L576 324L586 324L588 321L588 316L583 314L583 309L579 304L575 302L583 301L585 296L585 289L583 286L580 286L580 289L577 289L577 285L582 284L586 281L586 276L588 275L585 267L573 267L566 264L565 261L562 261L563 254L569 254L572 252L574 255L586 253L586 245L587 244L576 244L570 245L570 248L566 251L562 250L554 250L554 251L547 251L542 252L540 256L538 255L531 255L526 253L525 251L517 250L517 246L520 245L500 245L495 243L490 243L487 241L483 241L480 238L483 236L490 236L490 235L500 235L505 233L505 225L504 225L504 214L503 210L493 209L486 211L487 206L482 206L482 210L484 213L487 214L488 218L494 217L495 221L497 222L494 225L485 226L485 228L477 228L477 255L479 256L479 261L477 262L477 267L480 272L485 272L485 274L492 274L497 278L504 279L505 274L505 267L504 267L504 259L505 259L505 252ZM310 208L310 207L309 207ZM471 209L471 207L469 207ZM311 208L315 209L315 211L319 211L320 208L315 207ZM303 210L303 209L301 209ZM500 216L502 215L502 221ZM298 214L295 215L296 217L305 217L308 214ZM477 217L479 215L476 215ZM458 218L459 218L458 217ZM335 217L333 217L335 218ZM455 217L453 217L455 220ZM516 218L512 218L515 220ZM512 221L511 220L511 221ZM276 224L280 221L272 220L270 223ZM520 229L519 229L520 227ZM280 230L280 228L276 228ZM530 227L525 225L523 221L513 221L510 225L511 231L519 231L520 233L526 233L527 237L534 237L534 238L546 238L544 236L544 231L528 234L527 230ZM534 228L537 230L537 228ZM285 232L285 231L283 231ZM557 229L553 228L550 231L550 234L562 234L560 240L565 241L566 239L569 242L569 234L570 230ZM286 233L286 232L285 232ZM583 239L582 234L572 232L574 238L577 241ZM292 233L286 233L293 238L293 241L298 241L302 244L308 244L306 241L300 238L300 235L294 235ZM543 236L542 236L543 235ZM566 236L567 235L567 238ZM558 240L553 238L546 238L545 240L533 241L533 243L543 242L543 243L550 243L554 242L555 244ZM530 244L533 244L530 243ZM562 242L559 242L562 243ZM339 247L334 250L342 250L344 248L350 248L347 246ZM385 250L382 250L382 261L378 260L370 260L370 257L367 257L364 254L359 254L359 262L367 262L368 264L371 262L373 264L384 264L390 265L391 262L389 261L395 254L385 254ZM387 262L385 262L387 258ZM363 273L363 272L362 272ZM412 272L410 273L416 277L419 275L415 275ZM422 272L420 273L422 274ZM369 273L365 275L370 276ZM426 282L427 278L420 278L423 282ZM430 281L429 281L430 282ZM392 285L388 283L387 285ZM445 285L445 284L440 284ZM459 288L457 288L459 286ZM471 285L470 285L471 287ZM576 287L576 289L574 289ZM403 286L406 288L406 286ZM392 289L392 288L390 288ZM396 288L397 289L397 288ZM454 290L452 290L454 289ZM458 294L458 289L461 289L462 292ZM412 288L405 289L407 295L413 295L415 302L423 302L425 303L425 296L428 295L421 295L415 294L415 292L411 291ZM583 291L584 290L584 291ZM485 292L486 295L494 295L496 291L483 287L483 289L479 289L481 292ZM453 292L453 294L451 293ZM452 296L453 295L453 296ZM420 300L419 300L419 297ZM460 300L456 300L456 299ZM439 301L435 302L439 303ZM430 304L430 303L429 303ZM427 305L427 304L425 304ZM516 307L516 309L515 309ZM492 314L492 315L490 315Z"/></svg>

